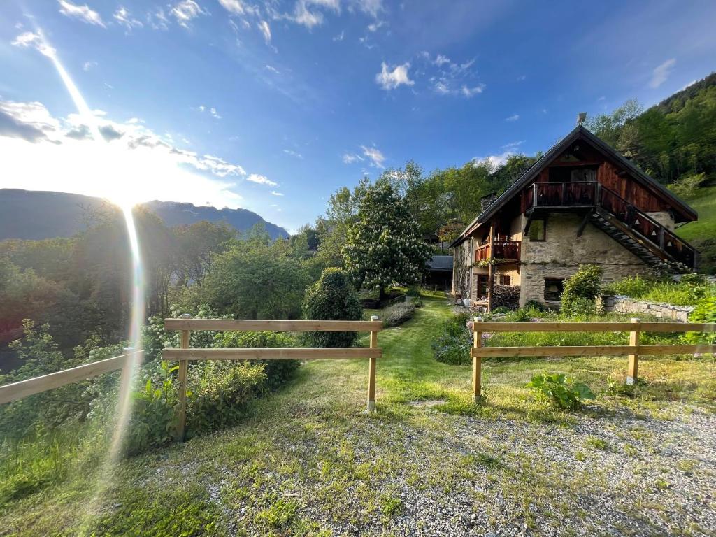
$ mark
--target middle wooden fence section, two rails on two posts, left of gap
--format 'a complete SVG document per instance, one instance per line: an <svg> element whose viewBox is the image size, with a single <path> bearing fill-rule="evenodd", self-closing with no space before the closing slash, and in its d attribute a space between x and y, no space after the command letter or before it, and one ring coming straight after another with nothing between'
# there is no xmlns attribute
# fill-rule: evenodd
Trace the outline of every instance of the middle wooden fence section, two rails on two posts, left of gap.
<svg viewBox="0 0 716 537"><path fill-rule="evenodd" d="M324 358L368 358L368 412L375 410L375 365L382 357L378 347L378 332L383 322L377 316L370 321L271 321L236 319L192 319L183 315L179 319L165 319L165 330L181 332L180 348L164 349L162 358L179 362L179 416L178 435L184 437L186 420L186 374L190 360L314 360ZM289 349L191 349L189 334L192 330L222 330L241 332L270 330L272 332L370 332L370 347L321 347Z"/></svg>

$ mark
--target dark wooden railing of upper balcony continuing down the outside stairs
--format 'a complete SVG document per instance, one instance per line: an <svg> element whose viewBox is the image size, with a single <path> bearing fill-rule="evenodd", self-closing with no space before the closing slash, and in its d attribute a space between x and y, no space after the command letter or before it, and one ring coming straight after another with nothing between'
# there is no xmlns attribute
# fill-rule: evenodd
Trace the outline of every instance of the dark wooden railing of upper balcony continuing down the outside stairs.
<svg viewBox="0 0 716 537"><path fill-rule="evenodd" d="M632 203L596 181L574 183L533 183L525 190L530 208L598 208L614 216L652 246L688 267L694 266L695 250L668 228L639 211Z"/></svg>

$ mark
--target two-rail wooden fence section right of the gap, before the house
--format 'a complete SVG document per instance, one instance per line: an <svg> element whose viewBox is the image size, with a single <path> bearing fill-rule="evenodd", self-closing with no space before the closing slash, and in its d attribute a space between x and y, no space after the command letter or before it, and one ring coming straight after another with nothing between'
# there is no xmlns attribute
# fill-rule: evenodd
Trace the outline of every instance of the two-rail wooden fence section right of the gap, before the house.
<svg viewBox="0 0 716 537"><path fill-rule="evenodd" d="M716 345L641 345L642 332L715 332L715 323L656 323L631 319L619 322L545 322L503 323L483 322L480 317L473 321L473 399L480 400L480 369L482 359L488 357L541 357L541 356L628 356L627 384L637 382L639 356L649 354L693 354L716 352ZM629 332L628 345L605 345L584 347L483 347L483 334L494 332Z"/></svg>

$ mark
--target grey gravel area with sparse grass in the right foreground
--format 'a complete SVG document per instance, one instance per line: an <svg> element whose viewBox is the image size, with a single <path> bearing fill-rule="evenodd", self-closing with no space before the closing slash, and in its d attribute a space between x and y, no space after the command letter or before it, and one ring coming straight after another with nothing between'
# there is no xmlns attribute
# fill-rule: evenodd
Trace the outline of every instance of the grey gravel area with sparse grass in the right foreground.
<svg viewBox="0 0 716 537"><path fill-rule="evenodd" d="M350 536L716 535L713 415L577 415L558 427L417 408L410 424L382 425L379 449L365 430L347 438L356 463L400 453L405 463L379 484L400 500L395 513L337 521L311 500L316 485L299 493L301 516Z"/></svg>

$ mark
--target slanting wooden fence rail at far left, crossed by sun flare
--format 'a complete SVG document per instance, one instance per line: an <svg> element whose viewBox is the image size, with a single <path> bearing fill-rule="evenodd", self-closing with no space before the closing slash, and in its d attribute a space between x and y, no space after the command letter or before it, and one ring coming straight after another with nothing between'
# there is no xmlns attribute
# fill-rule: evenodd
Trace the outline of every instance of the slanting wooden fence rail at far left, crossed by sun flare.
<svg viewBox="0 0 716 537"><path fill-rule="evenodd" d="M15 401L35 395L55 388L61 388L79 382L80 380L97 377L103 373L117 371L117 369L125 369L130 365L130 358L135 354L141 354L142 351L121 354L113 358L98 360L89 364L78 365L71 369L63 369L62 371L42 375L42 377L34 377L32 379L21 380L12 384L0 386L0 405L2 403ZM127 369L125 369L127 371ZM122 375L122 379L128 377L127 374Z"/></svg>

